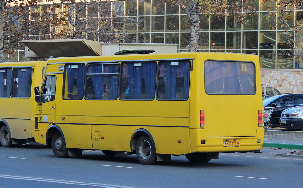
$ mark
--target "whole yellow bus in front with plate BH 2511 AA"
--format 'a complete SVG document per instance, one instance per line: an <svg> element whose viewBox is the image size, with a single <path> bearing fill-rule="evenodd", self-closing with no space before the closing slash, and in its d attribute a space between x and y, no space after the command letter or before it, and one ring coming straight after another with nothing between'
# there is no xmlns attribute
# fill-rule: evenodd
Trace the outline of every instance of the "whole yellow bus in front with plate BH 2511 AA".
<svg viewBox="0 0 303 188"><path fill-rule="evenodd" d="M35 140L51 143L57 157L102 150L137 154L142 164L258 151L260 82L259 59L251 54L50 58L42 88L35 88Z"/></svg>

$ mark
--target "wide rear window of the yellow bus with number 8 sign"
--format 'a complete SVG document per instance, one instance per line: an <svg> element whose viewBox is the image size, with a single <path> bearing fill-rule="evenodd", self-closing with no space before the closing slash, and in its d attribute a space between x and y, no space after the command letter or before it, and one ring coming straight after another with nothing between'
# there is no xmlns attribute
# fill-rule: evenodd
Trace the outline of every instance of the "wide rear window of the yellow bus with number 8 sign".
<svg viewBox="0 0 303 188"><path fill-rule="evenodd" d="M205 61L205 91L207 94L256 93L255 64L236 61Z"/></svg>

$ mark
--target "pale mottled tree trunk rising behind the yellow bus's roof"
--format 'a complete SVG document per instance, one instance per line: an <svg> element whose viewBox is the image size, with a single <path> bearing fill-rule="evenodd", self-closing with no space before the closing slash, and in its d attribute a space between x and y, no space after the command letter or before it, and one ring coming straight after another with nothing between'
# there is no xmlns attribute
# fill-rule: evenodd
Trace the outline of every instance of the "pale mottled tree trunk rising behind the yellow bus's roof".
<svg viewBox="0 0 303 188"><path fill-rule="evenodd" d="M200 25L200 9L199 9L199 0L191 1L190 3L190 45L188 50L190 52L198 50L198 43L199 43L199 25Z"/></svg>

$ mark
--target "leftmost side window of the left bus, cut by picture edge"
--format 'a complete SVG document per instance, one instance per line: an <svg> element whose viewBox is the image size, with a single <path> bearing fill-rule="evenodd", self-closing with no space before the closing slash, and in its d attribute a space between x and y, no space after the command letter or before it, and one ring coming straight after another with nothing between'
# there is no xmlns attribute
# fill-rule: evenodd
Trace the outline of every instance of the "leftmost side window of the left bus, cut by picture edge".
<svg viewBox="0 0 303 188"><path fill-rule="evenodd" d="M0 70L0 98L11 96L12 69L5 68Z"/></svg>

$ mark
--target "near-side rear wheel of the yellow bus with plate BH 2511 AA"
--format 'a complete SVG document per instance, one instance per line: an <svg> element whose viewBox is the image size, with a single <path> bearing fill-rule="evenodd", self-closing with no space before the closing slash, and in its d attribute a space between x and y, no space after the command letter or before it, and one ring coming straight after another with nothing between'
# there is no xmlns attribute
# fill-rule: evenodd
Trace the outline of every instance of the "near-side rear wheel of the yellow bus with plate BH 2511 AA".
<svg viewBox="0 0 303 188"><path fill-rule="evenodd" d="M156 149L154 143L148 136L139 138L136 146L136 154L141 164L155 164L157 162Z"/></svg>

